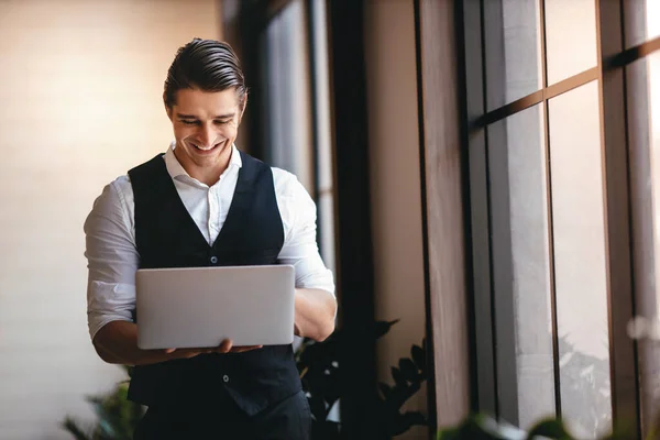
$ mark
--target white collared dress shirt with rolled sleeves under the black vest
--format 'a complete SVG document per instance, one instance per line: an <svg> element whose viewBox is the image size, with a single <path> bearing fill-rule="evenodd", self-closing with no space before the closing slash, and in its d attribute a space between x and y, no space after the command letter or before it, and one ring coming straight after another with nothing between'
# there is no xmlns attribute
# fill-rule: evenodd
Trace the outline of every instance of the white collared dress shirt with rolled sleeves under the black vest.
<svg viewBox="0 0 660 440"><path fill-rule="evenodd" d="M230 164L209 187L190 177L174 155L164 156L167 172L195 223L212 245L224 224L242 166L232 145ZM334 294L332 273L326 268L316 242L316 206L296 176L273 167L275 196L284 227L284 245L277 261L296 272L296 287ZM135 248L135 204L128 175L103 188L85 222L89 279L87 321L91 339L108 322L132 321L135 308L135 272L140 255Z"/></svg>

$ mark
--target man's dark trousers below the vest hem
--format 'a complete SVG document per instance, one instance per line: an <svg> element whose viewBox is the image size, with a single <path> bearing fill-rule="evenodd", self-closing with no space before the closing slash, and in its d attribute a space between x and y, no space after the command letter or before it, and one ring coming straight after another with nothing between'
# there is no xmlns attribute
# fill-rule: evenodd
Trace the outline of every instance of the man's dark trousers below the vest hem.
<svg viewBox="0 0 660 440"><path fill-rule="evenodd" d="M217 400L180 400L152 406L135 429L134 440L309 440L311 415L299 392L248 417L224 393Z"/></svg>

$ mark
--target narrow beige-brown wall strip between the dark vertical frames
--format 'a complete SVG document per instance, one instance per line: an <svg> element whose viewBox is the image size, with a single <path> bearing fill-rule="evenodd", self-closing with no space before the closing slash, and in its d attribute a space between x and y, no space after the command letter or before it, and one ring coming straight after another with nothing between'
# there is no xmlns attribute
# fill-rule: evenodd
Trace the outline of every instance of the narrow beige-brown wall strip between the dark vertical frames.
<svg viewBox="0 0 660 440"><path fill-rule="evenodd" d="M425 334L413 0L366 2L365 52L376 319L400 319L378 342L378 380L393 383L389 367ZM421 392L405 409L426 414L426 407Z"/></svg>

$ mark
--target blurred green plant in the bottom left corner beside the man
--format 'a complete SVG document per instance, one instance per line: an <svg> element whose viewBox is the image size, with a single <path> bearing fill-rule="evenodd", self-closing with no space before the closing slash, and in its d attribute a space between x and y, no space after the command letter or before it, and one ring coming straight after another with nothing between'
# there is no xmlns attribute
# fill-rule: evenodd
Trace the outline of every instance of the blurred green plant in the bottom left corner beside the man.
<svg viewBox="0 0 660 440"><path fill-rule="evenodd" d="M130 369L124 366L130 374ZM103 396L88 396L98 421L91 426L82 426L79 421L67 417L62 426L76 440L131 440L138 422L144 414L141 405L127 399L129 381L120 382L114 389Z"/></svg>

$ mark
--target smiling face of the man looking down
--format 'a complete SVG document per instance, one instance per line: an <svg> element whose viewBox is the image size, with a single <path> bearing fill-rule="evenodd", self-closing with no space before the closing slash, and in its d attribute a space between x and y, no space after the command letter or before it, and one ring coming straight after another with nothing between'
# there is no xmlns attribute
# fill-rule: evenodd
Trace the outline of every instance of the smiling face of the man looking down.
<svg viewBox="0 0 660 440"><path fill-rule="evenodd" d="M197 177L198 172L227 166L242 117L233 88L178 90L167 116L176 139L175 155L188 174Z"/></svg>

